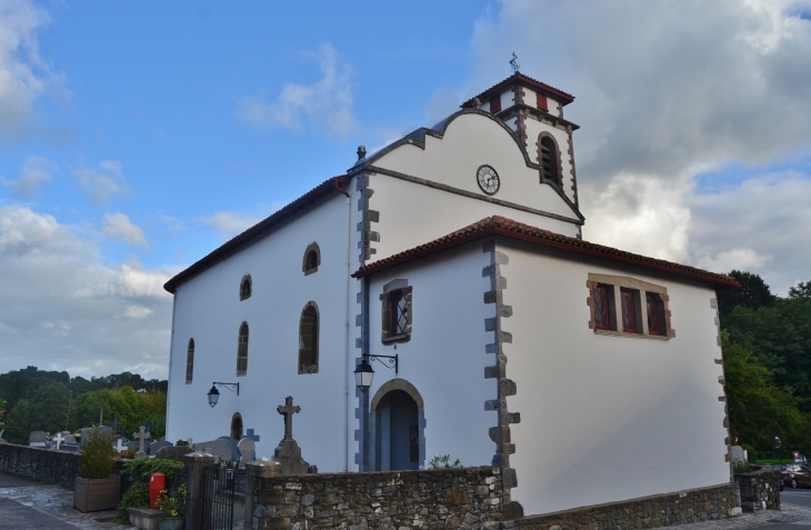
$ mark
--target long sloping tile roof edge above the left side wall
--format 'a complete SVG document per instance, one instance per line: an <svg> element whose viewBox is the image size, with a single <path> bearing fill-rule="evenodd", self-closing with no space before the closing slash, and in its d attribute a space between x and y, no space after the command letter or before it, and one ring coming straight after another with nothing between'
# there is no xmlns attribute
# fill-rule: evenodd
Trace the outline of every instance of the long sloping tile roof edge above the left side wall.
<svg viewBox="0 0 811 530"><path fill-rule="evenodd" d="M326 180L324 182L320 183L312 190L299 197L269 218L259 221L257 224L252 226L244 232L226 242L222 247L206 256L203 259L196 262L188 269L179 272L174 278L163 284L163 289L173 293L178 286L183 283L184 281L190 280L209 267L212 267L213 264L237 252L244 246L250 244L251 242L253 242L254 239L260 238L266 233L277 229L281 223L287 222L291 217L297 216L317 200L332 193L340 192L347 194L347 192L342 190L338 184L348 182L350 178L347 176L332 177L331 179Z"/></svg>

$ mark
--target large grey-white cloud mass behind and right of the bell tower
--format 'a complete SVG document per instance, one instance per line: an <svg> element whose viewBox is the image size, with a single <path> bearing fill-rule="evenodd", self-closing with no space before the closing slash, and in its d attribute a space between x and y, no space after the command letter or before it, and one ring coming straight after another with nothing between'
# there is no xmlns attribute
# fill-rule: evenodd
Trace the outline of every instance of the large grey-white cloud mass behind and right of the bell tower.
<svg viewBox="0 0 811 530"><path fill-rule="evenodd" d="M523 73L577 97L565 117L582 127L574 152L587 239L759 268L784 291L788 278L809 276L801 263L811 256L798 247L809 248L800 200L809 176L794 176L793 190L765 190L758 182L769 176L725 173L728 191L709 196L694 178L811 158L811 21L797 16L809 9L808 0L501 2L475 24L465 97L509 76L514 50Z"/></svg>

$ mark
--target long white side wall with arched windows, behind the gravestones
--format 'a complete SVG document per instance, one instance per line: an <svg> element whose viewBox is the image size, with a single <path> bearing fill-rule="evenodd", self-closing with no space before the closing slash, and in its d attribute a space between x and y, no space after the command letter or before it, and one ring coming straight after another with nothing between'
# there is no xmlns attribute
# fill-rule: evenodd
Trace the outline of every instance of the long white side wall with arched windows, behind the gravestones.
<svg viewBox="0 0 811 530"><path fill-rule="evenodd" d="M357 208L352 202L349 257L357 269ZM347 289L354 300L358 282L347 273L347 199L336 194L323 204L239 253L211 267L177 289L172 360L169 374L167 438L191 437L196 442L228 436L231 418L240 412L244 429L261 440L259 457L272 456L283 437L283 419L276 408L292 396L301 413L294 416L293 434L302 456L321 471L346 467L349 440L350 469L354 468L354 328L347 336ZM321 264L304 276L304 249L318 242ZM250 273L251 298L240 301L239 284ZM320 313L319 373L298 373L299 318L314 301ZM356 304L350 307L354 320ZM237 377L237 339L240 324L250 327L248 374ZM189 338L194 338L194 376L184 383ZM348 340L349 339L349 340ZM347 343L350 343L347 359ZM348 368L351 364L351 368ZM239 382L240 394L220 390L213 409L206 394L212 381ZM349 387L344 386L349 384ZM344 391L352 396L347 403Z"/></svg>

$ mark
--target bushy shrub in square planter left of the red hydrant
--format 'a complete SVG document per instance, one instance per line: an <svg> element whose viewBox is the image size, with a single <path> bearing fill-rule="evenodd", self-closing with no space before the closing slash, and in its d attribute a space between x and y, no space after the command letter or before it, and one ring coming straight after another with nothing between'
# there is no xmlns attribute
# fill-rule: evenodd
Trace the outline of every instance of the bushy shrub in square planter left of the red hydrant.
<svg viewBox="0 0 811 530"><path fill-rule="evenodd" d="M96 428L81 450L79 474L73 484L73 508L82 513L114 509L121 491L121 477L112 476L116 466L112 436Z"/></svg>

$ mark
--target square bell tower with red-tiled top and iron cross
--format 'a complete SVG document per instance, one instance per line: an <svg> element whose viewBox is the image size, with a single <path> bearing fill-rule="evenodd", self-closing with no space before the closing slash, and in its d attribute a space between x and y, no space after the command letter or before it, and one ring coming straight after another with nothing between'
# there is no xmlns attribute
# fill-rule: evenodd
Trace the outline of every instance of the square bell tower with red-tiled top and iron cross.
<svg viewBox="0 0 811 530"><path fill-rule="evenodd" d="M563 118L563 107L574 97L518 71L514 54L510 63L512 76L461 107L490 112L504 122L538 166L539 181L555 186L578 206L572 132L580 127Z"/></svg>

